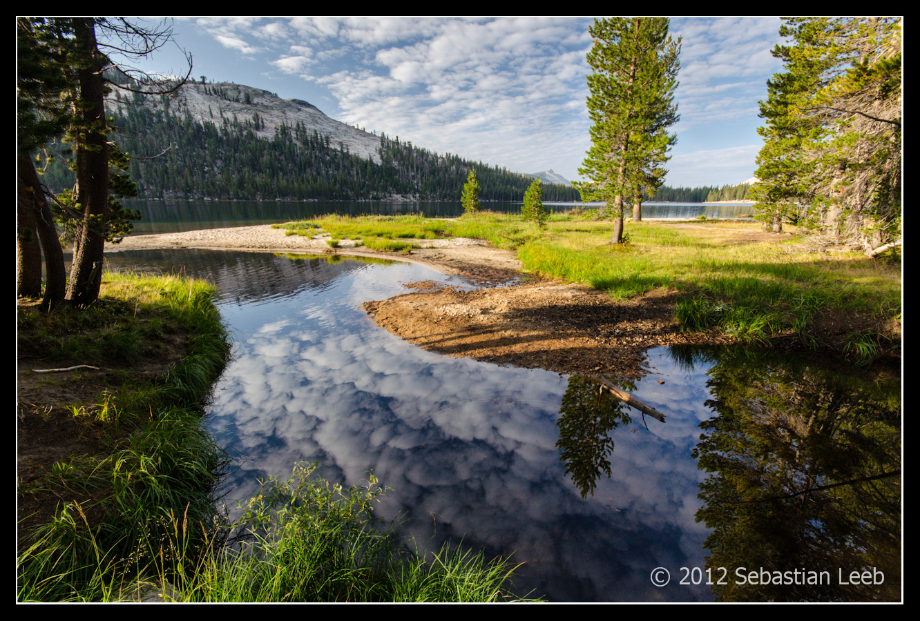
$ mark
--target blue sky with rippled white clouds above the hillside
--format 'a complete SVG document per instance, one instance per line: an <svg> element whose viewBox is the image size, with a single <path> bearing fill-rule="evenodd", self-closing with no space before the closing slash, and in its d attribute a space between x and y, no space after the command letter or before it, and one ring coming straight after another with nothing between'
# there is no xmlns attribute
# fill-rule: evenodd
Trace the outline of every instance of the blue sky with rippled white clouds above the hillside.
<svg viewBox="0 0 920 621"><path fill-rule="evenodd" d="M142 19L144 21L142 21ZM569 181L591 146L592 17L174 17L132 66L303 99L378 135ZM155 18L134 18L155 26ZM668 186L753 176L779 17L671 17L682 42Z"/></svg>

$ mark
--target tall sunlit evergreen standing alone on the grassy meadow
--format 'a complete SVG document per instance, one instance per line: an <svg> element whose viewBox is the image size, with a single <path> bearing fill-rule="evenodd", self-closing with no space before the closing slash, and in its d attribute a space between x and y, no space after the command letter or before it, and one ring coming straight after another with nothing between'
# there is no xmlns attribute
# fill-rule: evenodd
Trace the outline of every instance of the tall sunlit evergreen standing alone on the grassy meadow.
<svg viewBox="0 0 920 621"><path fill-rule="evenodd" d="M588 52L588 111L592 147L579 169L589 181L576 186L583 200L607 203L614 218L612 242L623 241L623 201L661 185L661 164L675 138L673 91L680 41L668 34L665 17L595 19ZM637 203L638 204L638 203Z"/></svg>

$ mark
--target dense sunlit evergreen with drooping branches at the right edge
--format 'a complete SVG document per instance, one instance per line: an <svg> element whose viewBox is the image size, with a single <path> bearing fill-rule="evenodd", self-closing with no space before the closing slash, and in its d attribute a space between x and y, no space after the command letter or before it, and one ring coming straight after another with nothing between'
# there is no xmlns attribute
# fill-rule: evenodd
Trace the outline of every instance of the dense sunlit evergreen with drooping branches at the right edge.
<svg viewBox="0 0 920 621"><path fill-rule="evenodd" d="M797 221L868 254L901 227L902 20L791 17L761 102L758 218Z"/></svg>

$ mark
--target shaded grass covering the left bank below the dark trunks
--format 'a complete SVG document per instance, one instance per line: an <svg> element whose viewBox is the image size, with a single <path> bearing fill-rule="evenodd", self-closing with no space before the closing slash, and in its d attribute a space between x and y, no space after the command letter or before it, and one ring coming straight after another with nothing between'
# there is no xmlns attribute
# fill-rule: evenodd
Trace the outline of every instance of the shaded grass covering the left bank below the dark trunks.
<svg viewBox="0 0 920 621"><path fill-rule="evenodd" d="M78 591L80 597L102 597L105 584L145 562L141 557L151 552L140 542L174 535L175 515L200 525L213 525L217 517L213 491L227 459L201 424L201 401L224 368L229 345L213 287L178 277L109 275L102 295L94 305L98 309L29 320L44 322L40 326L20 324L23 338L40 332L54 344L79 341L75 351L81 359L98 358L108 366L114 346L100 349L94 339L75 334L97 333L90 328L106 329L105 322L121 322L137 333L169 325L187 333L186 356L163 378L132 378L100 394L96 403L71 408L94 423L109 450L59 462L44 475L42 485L63 499L92 500L63 502L50 522L20 537L21 599L56 601ZM82 332L75 325L82 325ZM206 539L201 531L193 538L197 541L186 548L201 547ZM132 563L126 563L129 558Z"/></svg>

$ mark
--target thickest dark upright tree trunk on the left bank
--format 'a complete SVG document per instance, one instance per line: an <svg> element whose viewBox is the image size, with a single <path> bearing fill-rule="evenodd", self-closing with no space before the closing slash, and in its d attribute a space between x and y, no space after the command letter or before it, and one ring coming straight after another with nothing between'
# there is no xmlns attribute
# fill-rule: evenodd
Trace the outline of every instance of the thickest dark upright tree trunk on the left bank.
<svg viewBox="0 0 920 621"><path fill-rule="evenodd" d="M74 263L67 283L67 299L86 306L99 297L105 258L104 224L109 202L109 153L102 79L104 58L96 47L96 27L90 17L75 19L75 39L87 60L77 70L80 86L78 114L83 136L76 144L77 202L83 208L83 224L77 234Z"/></svg>

